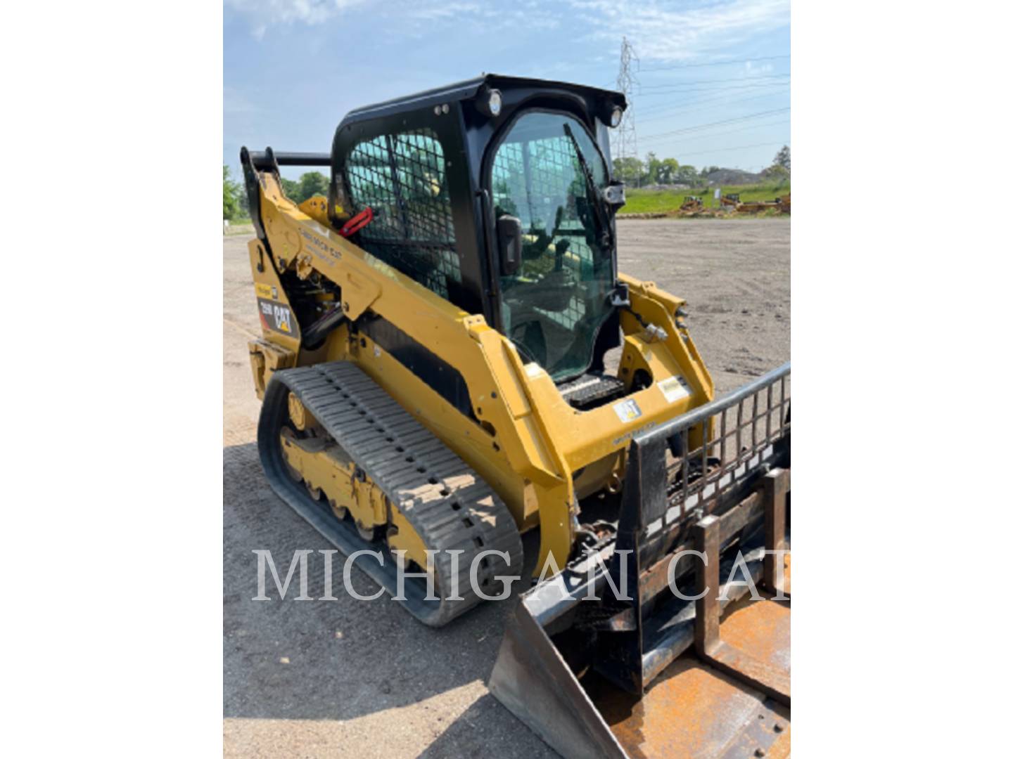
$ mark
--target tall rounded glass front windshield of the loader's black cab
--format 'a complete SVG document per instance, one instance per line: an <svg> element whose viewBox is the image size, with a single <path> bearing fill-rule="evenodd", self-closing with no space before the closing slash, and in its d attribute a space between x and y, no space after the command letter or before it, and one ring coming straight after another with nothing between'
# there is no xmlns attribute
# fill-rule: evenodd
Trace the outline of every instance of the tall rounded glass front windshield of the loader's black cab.
<svg viewBox="0 0 1013 759"><path fill-rule="evenodd" d="M495 216L524 231L520 268L499 278L503 329L555 381L587 370L612 310L607 182L588 131L561 113L522 115L492 160Z"/></svg>

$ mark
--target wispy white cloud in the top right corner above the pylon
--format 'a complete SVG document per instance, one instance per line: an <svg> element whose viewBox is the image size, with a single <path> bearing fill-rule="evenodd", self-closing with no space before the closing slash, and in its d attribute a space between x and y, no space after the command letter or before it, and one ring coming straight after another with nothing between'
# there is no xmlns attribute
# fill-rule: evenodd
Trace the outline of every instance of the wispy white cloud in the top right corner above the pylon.
<svg viewBox="0 0 1013 759"><path fill-rule="evenodd" d="M680 62L787 26L790 0L718 0L697 7L657 0L568 0L573 14L596 27L593 38L612 44L630 38L643 60Z"/></svg>

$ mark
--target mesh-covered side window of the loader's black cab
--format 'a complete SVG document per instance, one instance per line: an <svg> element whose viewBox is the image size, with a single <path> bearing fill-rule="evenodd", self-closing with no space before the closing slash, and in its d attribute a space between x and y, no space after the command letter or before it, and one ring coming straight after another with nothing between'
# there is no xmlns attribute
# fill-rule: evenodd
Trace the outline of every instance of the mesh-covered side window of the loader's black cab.
<svg viewBox="0 0 1013 759"><path fill-rule="evenodd" d="M359 233L359 245L453 301L461 261L436 134L418 130L359 143L348 155L345 177L352 212L373 208L373 222Z"/></svg>

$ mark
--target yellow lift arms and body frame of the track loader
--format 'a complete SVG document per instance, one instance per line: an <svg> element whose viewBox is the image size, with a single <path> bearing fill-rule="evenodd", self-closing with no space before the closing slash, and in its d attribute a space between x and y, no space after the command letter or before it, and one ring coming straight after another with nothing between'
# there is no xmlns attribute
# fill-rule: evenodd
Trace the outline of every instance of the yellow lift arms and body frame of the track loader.
<svg viewBox="0 0 1013 759"><path fill-rule="evenodd" d="M265 323L263 338L249 343L258 397L276 370L355 362L489 483L522 531L541 526L538 573L547 565L554 573L566 564L578 499L619 486L632 437L713 398L710 374L677 317L685 301L653 282L620 274L629 287L631 310L620 316L624 342L619 376L629 390L634 374L643 369L651 385L619 404L577 411L549 374L537 363L526 363L483 316L462 311L341 237L328 221L324 198L297 205L286 197L276 173L257 171L256 179L260 220L274 253L267 255L258 239L249 243L261 303L291 312L281 274L292 270L302 279L322 276L339 285L347 318L314 350L303 347L298 326L285 334ZM477 421L368 336L349 329L367 312L383 317L460 371ZM644 324L660 330L648 331ZM672 384L680 377L678 386Z"/></svg>

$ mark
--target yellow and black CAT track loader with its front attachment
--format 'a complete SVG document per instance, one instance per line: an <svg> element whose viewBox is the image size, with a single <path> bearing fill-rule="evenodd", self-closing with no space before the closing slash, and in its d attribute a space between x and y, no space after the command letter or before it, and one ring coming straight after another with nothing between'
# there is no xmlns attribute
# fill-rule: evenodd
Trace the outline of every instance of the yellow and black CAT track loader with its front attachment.
<svg viewBox="0 0 1013 759"><path fill-rule="evenodd" d="M426 624L523 573L489 689L560 754L784 754L790 368L715 400L684 301L619 273L625 107L489 75L244 148L260 457Z"/></svg>

